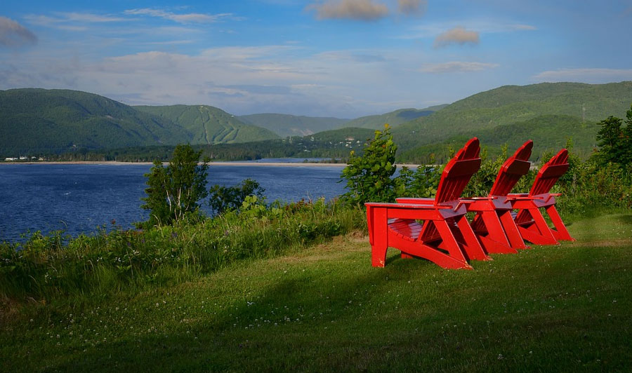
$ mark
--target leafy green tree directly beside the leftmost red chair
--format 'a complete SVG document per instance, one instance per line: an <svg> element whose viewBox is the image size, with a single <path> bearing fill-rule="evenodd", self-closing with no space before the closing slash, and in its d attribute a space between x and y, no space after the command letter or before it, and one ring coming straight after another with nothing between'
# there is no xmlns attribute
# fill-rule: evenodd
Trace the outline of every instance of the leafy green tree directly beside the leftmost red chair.
<svg viewBox="0 0 632 373"><path fill-rule="evenodd" d="M341 178L347 180L348 192L343 199L353 203L394 202L400 182L392 179L397 145L393 142L388 124L384 131L375 131L375 137L362 149L362 156L351 151L349 164L342 171Z"/></svg>

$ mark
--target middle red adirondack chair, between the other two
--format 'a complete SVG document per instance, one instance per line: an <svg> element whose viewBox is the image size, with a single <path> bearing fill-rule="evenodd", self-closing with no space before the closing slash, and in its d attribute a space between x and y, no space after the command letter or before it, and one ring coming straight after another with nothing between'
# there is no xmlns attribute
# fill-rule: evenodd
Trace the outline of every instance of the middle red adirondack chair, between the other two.
<svg viewBox="0 0 632 373"><path fill-rule="evenodd" d="M515 253L517 248L527 248L511 216L512 206L507 196L520 177L529 172L532 148L531 140L525 142L503 163L487 197L461 198L468 202L468 212L476 212L471 226L488 253ZM420 198L397 198L398 203L419 201Z"/></svg>

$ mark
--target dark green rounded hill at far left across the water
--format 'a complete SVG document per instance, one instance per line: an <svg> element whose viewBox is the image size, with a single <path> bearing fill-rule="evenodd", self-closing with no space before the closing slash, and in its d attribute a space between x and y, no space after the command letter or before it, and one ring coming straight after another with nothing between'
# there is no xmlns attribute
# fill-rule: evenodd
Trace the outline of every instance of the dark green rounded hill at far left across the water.
<svg viewBox="0 0 632 373"><path fill-rule="evenodd" d="M106 97L76 90L0 90L0 153L176 144L180 126Z"/></svg>

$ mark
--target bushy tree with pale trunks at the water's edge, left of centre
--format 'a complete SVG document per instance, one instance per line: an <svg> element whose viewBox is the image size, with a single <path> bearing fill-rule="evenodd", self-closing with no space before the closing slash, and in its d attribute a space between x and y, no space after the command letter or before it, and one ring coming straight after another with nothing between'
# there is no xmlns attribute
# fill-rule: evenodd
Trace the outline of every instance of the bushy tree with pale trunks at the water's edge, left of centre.
<svg viewBox="0 0 632 373"><path fill-rule="evenodd" d="M178 222L187 213L199 208L198 201L208 195L206 175L209 165L206 160L199 164L202 151L194 151L190 145L180 144L173 150L169 165L163 167L159 160L147 177L147 197L141 198L140 206L150 210L150 218L143 226L155 226Z"/></svg>

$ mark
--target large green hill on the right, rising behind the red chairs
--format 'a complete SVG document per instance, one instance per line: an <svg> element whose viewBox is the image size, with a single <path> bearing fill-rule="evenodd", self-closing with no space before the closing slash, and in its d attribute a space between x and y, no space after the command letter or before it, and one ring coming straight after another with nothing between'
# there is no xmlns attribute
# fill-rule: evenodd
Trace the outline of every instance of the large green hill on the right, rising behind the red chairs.
<svg viewBox="0 0 632 373"><path fill-rule="evenodd" d="M578 144L585 144L590 140L583 136L590 135L590 131L581 130L584 123L594 123L610 115L625 117L631 103L632 81L503 86L454 102L430 116L404 123L393 129L393 137L400 149L445 142L456 135L481 136L485 131L491 131L488 133L494 138L500 138L503 137L501 130L509 129L502 126L514 125L512 130L520 130L520 126L532 126L529 121L536 117L549 116L548 119L553 121L548 128L538 129L542 135L538 137L539 141L550 134L557 138L573 137ZM568 116L579 118L575 126L568 126ZM494 130L496 128L499 130ZM527 135L531 133L525 133ZM536 142L536 138L533 140ZM539 145L536 143L536 146Z"/></svg>

